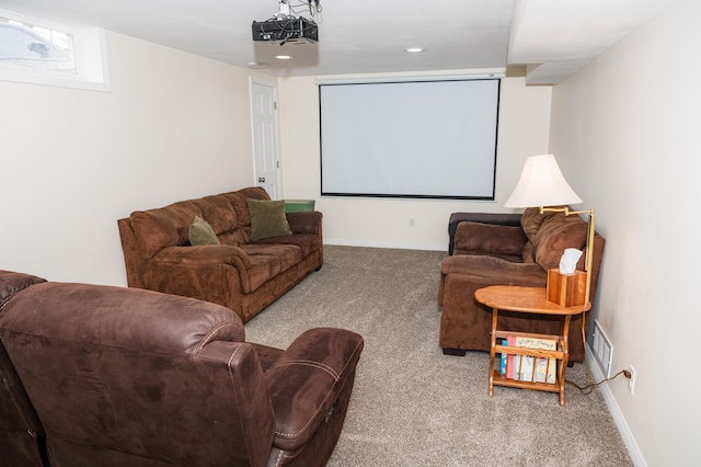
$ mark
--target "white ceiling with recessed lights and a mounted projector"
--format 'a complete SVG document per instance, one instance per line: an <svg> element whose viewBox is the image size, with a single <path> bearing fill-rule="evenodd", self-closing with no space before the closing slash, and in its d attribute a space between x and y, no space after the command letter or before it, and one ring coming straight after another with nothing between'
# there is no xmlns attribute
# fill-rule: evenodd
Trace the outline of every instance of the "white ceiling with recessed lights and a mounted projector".
<svg viewBox="0 0 701 467"><path fill-rule="evenodd" d="M273 76L527 66L529 83L550 84L674 1L320 0L319 43L284 46L251 38L251 23L274 16L279 0L0 0L0 9L100 26ZM289 4L309 16L306 0ZM280 53L292 58L276 59Z"/></svg>

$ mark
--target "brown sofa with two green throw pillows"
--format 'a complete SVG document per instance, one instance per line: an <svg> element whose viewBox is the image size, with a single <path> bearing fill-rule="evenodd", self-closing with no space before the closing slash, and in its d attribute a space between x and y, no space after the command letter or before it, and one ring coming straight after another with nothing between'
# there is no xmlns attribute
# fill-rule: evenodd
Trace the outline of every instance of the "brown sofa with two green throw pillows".
<svg viewBox="0 0 701 467"><path fill-rule="evenodd" d="M321 213L288 213L291 235L253 241L248 198L269 201L246 187L119 219L128 285L223 305L246 322L322 266ZM195 216L221 244L189 246Z"/></svg>

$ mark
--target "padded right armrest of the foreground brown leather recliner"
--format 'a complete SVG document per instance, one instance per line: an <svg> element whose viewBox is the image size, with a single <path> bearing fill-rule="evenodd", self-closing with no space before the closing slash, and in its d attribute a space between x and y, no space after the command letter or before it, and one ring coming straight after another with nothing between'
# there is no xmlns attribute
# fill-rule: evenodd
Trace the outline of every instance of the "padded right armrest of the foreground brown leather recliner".
<svg viewBox="0 0 701 467"><path fill-rule="evenodd" d="M265 374L275 412L273 445L295 451L309 442L335 409L363 351L363 338L342 329L300 334Z"/></svg>

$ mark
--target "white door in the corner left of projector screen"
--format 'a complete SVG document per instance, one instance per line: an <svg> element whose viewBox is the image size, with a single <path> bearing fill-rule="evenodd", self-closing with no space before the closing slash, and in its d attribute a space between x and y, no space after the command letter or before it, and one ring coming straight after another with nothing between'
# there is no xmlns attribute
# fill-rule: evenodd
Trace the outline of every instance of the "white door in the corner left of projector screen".
<svg viewBox="0 0 701 467"><path fill-rule="evenodd" d="M253 175L255 185L263 186L273 200L283 196L276 94L275 86L251 81Z"/></svg>

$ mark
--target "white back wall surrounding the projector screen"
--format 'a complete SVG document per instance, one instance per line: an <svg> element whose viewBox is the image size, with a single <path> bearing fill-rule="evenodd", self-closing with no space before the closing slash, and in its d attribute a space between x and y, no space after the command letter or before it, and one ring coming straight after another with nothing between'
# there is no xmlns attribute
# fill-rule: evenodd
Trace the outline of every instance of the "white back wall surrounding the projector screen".
<svg viewBox="0 0 701 467"><path fill-rule="evenodd" d="M313 77L281 79L285 197L315 200L326 243L447 250L451 213L505 212L524 159L547 151L550 96L550 87L526 87L521 77L503 80L495 202L321 197L318 87Z"/></svg>

